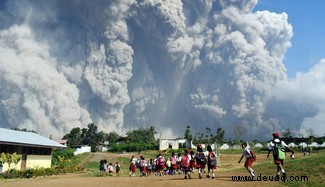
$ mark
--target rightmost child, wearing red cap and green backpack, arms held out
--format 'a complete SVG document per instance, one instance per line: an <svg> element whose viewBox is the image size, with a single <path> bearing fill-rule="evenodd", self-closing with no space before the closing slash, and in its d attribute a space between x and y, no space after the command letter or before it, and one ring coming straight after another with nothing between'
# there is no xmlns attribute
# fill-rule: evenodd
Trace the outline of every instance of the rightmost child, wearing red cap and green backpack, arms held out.
<svg viewBox="0 0 325 187"><path fill-rule="evenodd" d="M267 158L269 158L270 152L273 152L274 164L277 165L277 175L279 178L281 173L283 177L286 177L286 173L283 168L283 160L285 159L285 148L291 151L291 157L294 157L294 151L282 140L279 139L280 133L274 132L272 134L273 140L270 142L269 152L267 154Z"/></svg>

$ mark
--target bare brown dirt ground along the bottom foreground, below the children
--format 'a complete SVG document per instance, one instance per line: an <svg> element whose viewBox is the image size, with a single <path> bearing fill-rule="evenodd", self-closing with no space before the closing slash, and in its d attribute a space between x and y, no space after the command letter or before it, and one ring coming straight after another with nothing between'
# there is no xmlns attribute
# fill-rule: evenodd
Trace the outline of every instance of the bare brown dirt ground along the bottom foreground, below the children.
<svg viewBox="0 0 325 187"><path fill-rule="evenodd" d="M0 181L1 187L91 187L91 186L114 186L114 187L159 187L159 186L279 186L279 182L250 181L234 182L231 179L236 173L217 175L215 179L199 179L197 174L192 174L192 179L185 180L183 175L172 176L149 176L149 177L80 177L78 175L62 175L34 179L15 179Z"/></svg>

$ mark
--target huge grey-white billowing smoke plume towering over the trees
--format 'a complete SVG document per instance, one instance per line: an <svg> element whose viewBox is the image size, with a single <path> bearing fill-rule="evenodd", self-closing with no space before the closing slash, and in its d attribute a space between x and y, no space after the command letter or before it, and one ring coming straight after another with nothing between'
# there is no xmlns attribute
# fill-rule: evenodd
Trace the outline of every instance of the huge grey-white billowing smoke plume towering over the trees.
<svg viewBox="0 0 325 187"><path fill-rule="evenodd" d="M153 125L163 136L187 125L230 137L299 130L318 109L281 97L298 82L282 63L292 27L285 13L253 12L256 3L2 1L1 126L44 135L91 122L106 132Z"/></svg>

